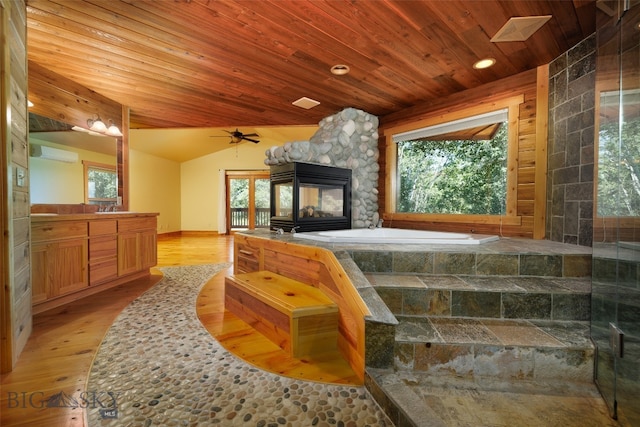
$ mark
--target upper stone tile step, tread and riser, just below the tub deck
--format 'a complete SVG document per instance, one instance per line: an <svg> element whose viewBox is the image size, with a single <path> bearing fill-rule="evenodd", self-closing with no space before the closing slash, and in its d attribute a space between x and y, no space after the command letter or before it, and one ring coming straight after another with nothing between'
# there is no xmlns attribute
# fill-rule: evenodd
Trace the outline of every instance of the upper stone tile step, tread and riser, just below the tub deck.
<svg viewBox="0 0 640 427"><path fill-rule="evenodd" d="M396 316L591 317L589 278L369 274L367 279Z"/></svg>

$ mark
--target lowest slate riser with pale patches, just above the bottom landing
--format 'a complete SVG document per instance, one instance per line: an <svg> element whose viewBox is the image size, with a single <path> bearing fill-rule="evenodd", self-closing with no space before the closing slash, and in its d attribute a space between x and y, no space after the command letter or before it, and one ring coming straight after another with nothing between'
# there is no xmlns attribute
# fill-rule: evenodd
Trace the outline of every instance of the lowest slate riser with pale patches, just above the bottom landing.
<svg viewBox="0 0 640 427"><path fill-rule="evenodd" d="M593 349L396 343L394 368L434 376L593 381Z"/></svg>

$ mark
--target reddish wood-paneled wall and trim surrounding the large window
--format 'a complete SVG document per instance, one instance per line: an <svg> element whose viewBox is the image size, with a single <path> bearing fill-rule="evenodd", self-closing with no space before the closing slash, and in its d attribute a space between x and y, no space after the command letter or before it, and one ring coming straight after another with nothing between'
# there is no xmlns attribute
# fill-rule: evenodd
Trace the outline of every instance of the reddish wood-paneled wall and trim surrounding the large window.
<svg viewBox="0 0 640 427"><path fill-rule="evenodd" d="M524 102L519 107L517 140L509 147L517 152L515 169L516 212L515 215L489 219L478 216L477 221L459 220L444 215L424 216L418 219L394 218L392 212L385 212L386 198L390 197L390 180L381 174L378 183L381 216L386 219L385 226L432 229L444 231L470 232L483 234L519 236L542 239L545 237L546 218L546 147L547 147L547 67L539 67L513 77L491 83L477 89L459 92L435 102L406 109L400 113L380 118L380 169L386 170L389 158L386 147L385 130L428 120L432 117L446 116L453 111L474 106L491 105L499 100L522 95ZM388 132L387 132L388 133ZM515 146L514 146L515 145Z"/></svg>

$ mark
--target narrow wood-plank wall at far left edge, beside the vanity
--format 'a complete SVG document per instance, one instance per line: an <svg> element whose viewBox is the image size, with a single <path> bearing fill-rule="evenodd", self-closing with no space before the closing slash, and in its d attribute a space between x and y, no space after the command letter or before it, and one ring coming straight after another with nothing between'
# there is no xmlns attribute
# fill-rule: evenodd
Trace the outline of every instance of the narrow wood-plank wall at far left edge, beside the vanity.
<svg viewBox="0 0 640 427"><path fill-rule="evenodd" d="M2 110L1 371L13 369L31 334L27 33L23 0L0 0Z"/></svg>

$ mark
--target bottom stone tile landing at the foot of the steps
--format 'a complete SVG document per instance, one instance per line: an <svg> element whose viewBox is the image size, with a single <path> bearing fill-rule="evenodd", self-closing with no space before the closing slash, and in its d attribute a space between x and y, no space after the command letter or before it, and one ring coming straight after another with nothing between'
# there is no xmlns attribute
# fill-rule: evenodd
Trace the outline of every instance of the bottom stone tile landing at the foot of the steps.
<svg viewBox="0 0 640 427"><path fill-rule="evenodd" d="M621 427L593 382L470 380L367 368L365 385L397 426Z"/></svg>

